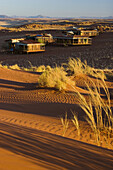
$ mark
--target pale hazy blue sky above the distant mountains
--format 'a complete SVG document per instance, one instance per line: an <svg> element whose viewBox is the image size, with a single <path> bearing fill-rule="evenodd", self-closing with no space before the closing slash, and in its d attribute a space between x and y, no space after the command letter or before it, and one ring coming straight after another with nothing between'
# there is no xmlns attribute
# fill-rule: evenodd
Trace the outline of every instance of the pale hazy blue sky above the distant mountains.
<svg viewBox="0 0 113 170"><path fill-rule="evenodd" d="M113 16L113 0L0 0L0 15Z"/></svg>

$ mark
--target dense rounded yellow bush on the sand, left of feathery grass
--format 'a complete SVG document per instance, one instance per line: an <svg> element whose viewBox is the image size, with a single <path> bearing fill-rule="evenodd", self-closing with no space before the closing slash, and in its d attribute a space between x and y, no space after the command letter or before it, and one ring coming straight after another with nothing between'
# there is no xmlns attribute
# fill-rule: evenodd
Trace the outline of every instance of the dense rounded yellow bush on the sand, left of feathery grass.
<svg viewBox="0 0 113 170"><path fill-rule="evenodd" d="M55 88L59 91L65 90L67 84L75 85L63 67L51 68L50 66L41 74L38 80L39 87Z"/></svg>

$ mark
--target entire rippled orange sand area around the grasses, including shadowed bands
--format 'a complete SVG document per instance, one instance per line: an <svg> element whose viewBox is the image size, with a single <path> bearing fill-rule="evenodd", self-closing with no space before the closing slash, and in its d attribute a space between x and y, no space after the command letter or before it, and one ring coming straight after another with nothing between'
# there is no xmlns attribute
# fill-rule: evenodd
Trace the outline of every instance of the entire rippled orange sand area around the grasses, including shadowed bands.
<svg viewBox="0 0 113 170"><path fill-rule="evenodd" d="M75 95L38 89L37 80L36 74L0 68L0 169L112 169L113 150L95 146ZM62 137L60 118L71 110L79 113L80 137L71 121Z"/></svg>

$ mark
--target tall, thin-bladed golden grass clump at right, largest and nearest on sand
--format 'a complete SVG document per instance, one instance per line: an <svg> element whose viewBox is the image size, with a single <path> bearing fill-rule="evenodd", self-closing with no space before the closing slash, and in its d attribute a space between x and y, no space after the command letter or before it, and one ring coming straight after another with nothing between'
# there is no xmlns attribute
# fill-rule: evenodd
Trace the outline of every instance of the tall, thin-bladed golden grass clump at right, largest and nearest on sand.
<svg viewBox="0 0 113 170"><path fill-rule="evenodd" d="M76 91L77 100L80 107L86 114L86 120L91 126L98 145L101 145L101 138L104 136L107 143L113 135L113 114L110 105L110 94L106 84L103 89L107 97L105 101L100 94L100 88L93 85L93 89L87 85L89 91L89 100ZM109 147L109 146L108 146Z"/></svg>

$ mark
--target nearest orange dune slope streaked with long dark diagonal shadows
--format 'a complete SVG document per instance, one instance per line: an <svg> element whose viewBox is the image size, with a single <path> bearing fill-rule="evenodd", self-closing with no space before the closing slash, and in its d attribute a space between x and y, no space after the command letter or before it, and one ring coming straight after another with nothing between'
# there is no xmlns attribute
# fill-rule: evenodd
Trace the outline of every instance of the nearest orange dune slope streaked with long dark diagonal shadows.
<svg viewBox="0 0 113 170"><path fill-rule="evenodd" d="M23 164L25 169L27 167L28 169L41 169L40 167L112 169L113 167L113 151L9 123L0 122L0 145L5 149L2 149L0 154L8 153L4 157L8 158L12 169L15 167L22 169ZM16 160L12 161L15 154ZM4 157L0 159L2 169L6 167Z"/></svg>

